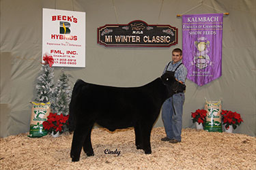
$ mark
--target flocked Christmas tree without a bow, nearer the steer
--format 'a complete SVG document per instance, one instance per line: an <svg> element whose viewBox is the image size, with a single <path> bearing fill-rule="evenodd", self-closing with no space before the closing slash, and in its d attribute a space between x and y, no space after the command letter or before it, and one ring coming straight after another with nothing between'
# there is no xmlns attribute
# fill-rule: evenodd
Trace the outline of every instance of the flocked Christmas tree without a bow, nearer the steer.
<svg viewBox="0 0 256 170"><path fill-rule="evenodd" d="M64 73L63 69L61 69L61 75L59 80L57 80L54 91L56 98L55 105L53 105L52 109L57 114L63 114L63 116L68 115L72 91L69 84L68 75Z"/></svg>

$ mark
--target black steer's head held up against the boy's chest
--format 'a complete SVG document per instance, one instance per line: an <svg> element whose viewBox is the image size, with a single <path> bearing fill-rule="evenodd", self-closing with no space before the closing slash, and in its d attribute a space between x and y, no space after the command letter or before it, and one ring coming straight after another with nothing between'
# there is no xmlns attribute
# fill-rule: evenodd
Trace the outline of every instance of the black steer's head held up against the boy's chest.
<svg viewBox="0 0 256 170"><path fill-rule="evenodd" d="M174 95L177 92L181 92L185 90L186 86L184 84L181 84L175 79L174 71L166 71L161 76L162 83L167 86L167 90L169 93L169 97Z"/></svg>

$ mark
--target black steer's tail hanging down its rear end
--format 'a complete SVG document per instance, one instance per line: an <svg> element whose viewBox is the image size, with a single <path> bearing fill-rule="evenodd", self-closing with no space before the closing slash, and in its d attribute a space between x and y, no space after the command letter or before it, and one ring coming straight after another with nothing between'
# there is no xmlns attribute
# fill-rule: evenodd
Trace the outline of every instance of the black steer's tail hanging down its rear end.
<svg viewBox="0 0 256 170"><path fill-rule="evenodd" d="M70 116L68 118L68 129L70 132L74 131L76 127L76 103L78 103L77 100L82 88L81 86L83 86L84 83L83 80L76 80L76 84L74 84L70 101Z"/></svg>

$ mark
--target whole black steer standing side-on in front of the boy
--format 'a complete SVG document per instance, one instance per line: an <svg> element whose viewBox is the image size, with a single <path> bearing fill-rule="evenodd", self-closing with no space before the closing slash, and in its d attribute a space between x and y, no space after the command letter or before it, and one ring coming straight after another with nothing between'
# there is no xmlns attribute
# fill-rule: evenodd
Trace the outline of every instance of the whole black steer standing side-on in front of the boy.
<svg viewBox="0 0 256 170"><path fill-rule="evenodd" d="M77 80L68 120L70 131L74 131L72 161L79 161L82 147L87 156L94 155L91 129L95 122L109 131L134 126L137 149L151 154L152 126L162 103L174 94L173 88L181 85L173 73L165 73L149 84L132 88L100 86Z"/></svg>

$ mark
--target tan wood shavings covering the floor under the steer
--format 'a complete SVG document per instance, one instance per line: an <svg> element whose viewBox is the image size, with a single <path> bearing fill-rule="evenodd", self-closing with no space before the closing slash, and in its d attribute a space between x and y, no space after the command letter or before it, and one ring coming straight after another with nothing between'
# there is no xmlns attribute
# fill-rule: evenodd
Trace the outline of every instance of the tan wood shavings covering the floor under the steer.
<svg viewBox="0 0 256 170"><path fill-rule="evenodd" d="M56 138L27 135L0 138L0 169L256 169L256 137L236 133L182 129L182 142L172 144L160 141L165 130L158 127L152 129L152 154L146 155L134 145L134 129L93 129L95 156L82 150L76 163L70 158L69 133Z"/></svg>

